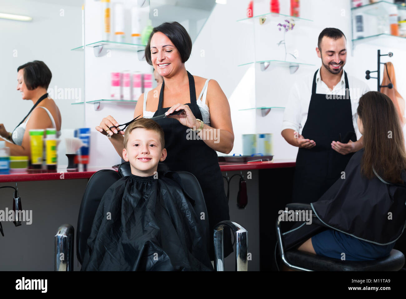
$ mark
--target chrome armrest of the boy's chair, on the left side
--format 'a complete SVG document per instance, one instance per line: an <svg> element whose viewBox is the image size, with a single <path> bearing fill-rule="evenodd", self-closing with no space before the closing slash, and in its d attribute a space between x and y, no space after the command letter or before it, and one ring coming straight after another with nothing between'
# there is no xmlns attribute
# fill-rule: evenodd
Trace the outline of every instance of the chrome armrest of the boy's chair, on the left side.
<svg viewBox="0 0 406 299"><path fill-rule="evenodd" d="M63 224L55 235L54 271L73 271L74 229Z"/></svg>

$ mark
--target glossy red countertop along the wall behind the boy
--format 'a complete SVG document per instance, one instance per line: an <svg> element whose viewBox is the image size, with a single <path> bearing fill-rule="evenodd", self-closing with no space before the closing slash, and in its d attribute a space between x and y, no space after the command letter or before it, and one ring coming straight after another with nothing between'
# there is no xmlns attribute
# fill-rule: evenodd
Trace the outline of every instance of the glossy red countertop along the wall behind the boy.
<svg viewBox="0 0 406 299"><path fill-rule="evenodd" d="M286 168L295 167L295 160L273 160L266 162L251 163L232 163L218 162L221 171L266 169L266 168ZM24 182L24 181L50 181L59 179L89 179L93 173L101 169L112 169L111 167L89 167L88 171L66 172L66 168L58 168L51 172L50 170L30 169L25 172L10 172L9 175L0 175L0 183Z"/></svg>

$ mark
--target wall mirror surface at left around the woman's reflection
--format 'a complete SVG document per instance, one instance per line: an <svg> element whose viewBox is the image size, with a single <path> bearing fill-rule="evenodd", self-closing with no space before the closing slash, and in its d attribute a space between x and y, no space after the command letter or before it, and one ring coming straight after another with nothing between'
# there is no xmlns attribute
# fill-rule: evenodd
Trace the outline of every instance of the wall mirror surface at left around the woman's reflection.
<svg viewBox="0 0 406 299"><path fill-rule="evenodd" d="M0 123L13 132L33 106L17 88L17 68L43 61L52 72L48 93L61 116L63 133L84 127L84 53L82 46L83 0L3 0L0 12L29 16L30 22L0 18ZM74 104L74 105L72 105ZM52 113L51 113L52 114ZM73 137L73 136L72 136ZM67 164L65 142L58 151L58 167ZM13 155L13 154L12 154Z"/></svg>

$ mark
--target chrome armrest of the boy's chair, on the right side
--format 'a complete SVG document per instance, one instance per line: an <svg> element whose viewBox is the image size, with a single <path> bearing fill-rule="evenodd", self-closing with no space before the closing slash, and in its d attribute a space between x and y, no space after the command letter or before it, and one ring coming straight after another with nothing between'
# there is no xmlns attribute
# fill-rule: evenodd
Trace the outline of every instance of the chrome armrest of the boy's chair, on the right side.
<svg viewBox="0 0 406 299"><path fill-rule="evenodd" d="M248 231L238 223L226 220L214 227L214 270L224 271L223 229L229 227L235 233L235 271L248 271Z"/></svg>

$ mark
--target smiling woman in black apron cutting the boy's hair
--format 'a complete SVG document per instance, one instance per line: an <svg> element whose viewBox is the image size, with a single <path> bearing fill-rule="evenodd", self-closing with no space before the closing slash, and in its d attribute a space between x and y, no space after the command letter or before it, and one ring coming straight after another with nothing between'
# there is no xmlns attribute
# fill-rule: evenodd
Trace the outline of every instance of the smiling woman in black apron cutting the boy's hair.
<svg viewBox="0 0 406 299"><path fill-rule="evenodd" d="M140 96L134 118L138 115L151 118L184 109L180 115L156 120L165 133L168 156L164 163L169 170L184 170L196 176L205 198L210 231L213 231L216 223L229 220L229 207L216 151L230 153L234 133L230 106L217 81L192 76L186 70L185 62L191 51L190 36L178 22L163 23L153 28L145 48L145 57L164 77L164 82ZM114 132L109 129L117 125L118 122L108 116L96 129L104 135L111 135L109 140L121 156L124 132L117 134L115 128ZM215 131L217 138L188 138L189 135L194 136L190 132L196 128ZM200 131L198 135L202 137L203 133ZM228 229L224 234L224 255L227 256L233 251L231 234ZM213 238L210 238L210 258L214 260Z"/></svg>

